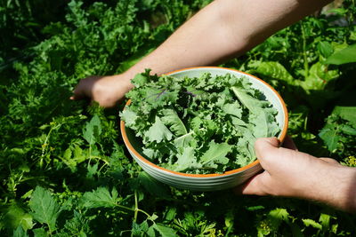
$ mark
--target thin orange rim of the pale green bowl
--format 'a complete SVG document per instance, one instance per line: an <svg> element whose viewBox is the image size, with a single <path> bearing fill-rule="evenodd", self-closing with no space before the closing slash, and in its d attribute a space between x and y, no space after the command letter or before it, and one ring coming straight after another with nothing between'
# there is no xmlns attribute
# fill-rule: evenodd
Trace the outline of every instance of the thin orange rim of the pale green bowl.
<svg viewBox="0 0 356 237"><path fill-rule="evenodd" d="M258 77L255 77L255 75L250 75L250 74L241 72L239 70L231 69L231 68L227 68L227 67L187 67L187 68L183 68L183 69L179 69L179 70L174 70L172 72L166 73L165 75L172 75L172 74L175 74L175 73L178 73L178 72L187 71L187 70L190 70L190 69L198 69L198 68L203 68L203 69L205 69L205 68L207 68L207 69L215 68L215 69L225 69L225 70L229 70L229 71L235 71L235 72L238 72L240 74L244 74L244 75L247 75L249 77L253 77L256 80L260 81L261 83L265 84L268 88L270 88L271 91L273 91L277 95L277 97L279 98L279 101L281 102L281 105L282 105L282 108L283 108L283 112L284 112L285 123L284 123L283 130L279 134L280 144L283 143L284 139L286 138L287 128L288 128L287 107L286 107L286 104L285 104L284 100L280 97L279 93L276 90L274 90L274 88L271 87L271 85L269 83L266 83L262 79L260 79ZM131 103L131 99L127 100L127 102L125 104L125 107L129 106L130 103ZM152 166L152 167L154 167L154 168L156 168L158 170L163 170L163 171L166 171L168 173L172 173L172 174L179 175L179 176L191 177L191 178L223 177L223 176L228 176L228 175L231 175L231 174L236 174L236 173L239 173L239 172L244 171L244 170L248 170L248 169L250 169L250 168L252 168L255 165L258 165L260 163L258 160L256 160L255 162L249 163L246 166L240 167L238 169L225 171L225 172L223 172L223 174L187 174L187 173L177 172L177 171L174 171L174 170L167 170L167 169L165 169L163 167L158 166L157 164L154 164L154 163L150 162L149 160L144 158L141 154L139 154L134 149L134 146L132 146L131 142L129 141L129 139L127 137L126 130L125 130L125 122L124 121L120 122L120 130L121 130L121 135L122 135L122 137L123 137L123 139L125 141L125 145L127 146L127 148L132 153L134 153L134 155L137 158L139 158L142 162L145 162L146 164L148 164L148 165L150 165L150 166Z"/></svg>

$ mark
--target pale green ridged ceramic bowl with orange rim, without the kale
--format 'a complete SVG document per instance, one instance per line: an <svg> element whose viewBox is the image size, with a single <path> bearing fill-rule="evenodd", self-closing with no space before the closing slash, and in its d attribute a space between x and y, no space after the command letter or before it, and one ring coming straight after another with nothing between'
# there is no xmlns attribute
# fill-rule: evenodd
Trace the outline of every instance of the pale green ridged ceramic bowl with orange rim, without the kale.
<svg viewBox="0 0 356 237"><path fill-rule="evenodd" d="M279 133L279 140L283 142L287 134L287 107L283 99L279 96L279 93L275 91L271 85L263 82L263 80L255 77L254 75L248 75L247 73L240 72L238 70L224 68L224 67L190 67L181 70L170 72L166 75L172 75L175 77L199 77L204 73L210 73L211 75L237 75L245 76L252 83L252 87L259 91L263 91L267 100L269 100L273 107L275 107L279 113L276 117L279 123L281 132ZM127 105L130 101L127 101ZM125 122L121 121L120 130L129 153L134 157L134 160L145 170L151 177L169 185L183 189L190 189L194 191L215 191L231 188L233 186L239 186L247 181L247 179L253 177L256 173L262 170L260 163L256 160L236 170L229 170L223 174L186 174L181 172L175 172L173 170L166 170L158 165L150 162L142 154L141 142L134 136L134 131L125 127Z"/></svg>

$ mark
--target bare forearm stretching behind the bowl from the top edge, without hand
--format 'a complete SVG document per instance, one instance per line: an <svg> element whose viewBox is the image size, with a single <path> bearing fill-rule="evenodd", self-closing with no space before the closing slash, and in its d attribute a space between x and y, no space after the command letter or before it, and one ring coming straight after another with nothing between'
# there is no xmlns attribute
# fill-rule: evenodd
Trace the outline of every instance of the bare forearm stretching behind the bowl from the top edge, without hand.
<svg viewBox="0 0 356 237"><path fill-rule="evenodd" d="M214 65L250 50L281 28L319 9L324 0L216 0L176 30L156 51L126 72L164 74Z"/></svg>

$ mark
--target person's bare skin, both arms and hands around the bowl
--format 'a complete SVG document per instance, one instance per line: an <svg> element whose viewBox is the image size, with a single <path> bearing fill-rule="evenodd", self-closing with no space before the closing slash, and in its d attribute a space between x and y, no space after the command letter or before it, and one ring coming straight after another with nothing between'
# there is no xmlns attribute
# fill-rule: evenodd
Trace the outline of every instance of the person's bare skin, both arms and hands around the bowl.
<svg viewBox="0 0 356 237"><path fill-rule="evenodd" d="M145 68L161 75L184 67L216 65L243 54L328 2L215 0L125 73L81 80L71 99L89 97L102 107L114 107L134 87L130 80ZM255 150L264 171L237 188L237 193L311 199L356 211L356 169L298 152L295 146L289 148L279 147L276 138L257 140Z"/></svg>

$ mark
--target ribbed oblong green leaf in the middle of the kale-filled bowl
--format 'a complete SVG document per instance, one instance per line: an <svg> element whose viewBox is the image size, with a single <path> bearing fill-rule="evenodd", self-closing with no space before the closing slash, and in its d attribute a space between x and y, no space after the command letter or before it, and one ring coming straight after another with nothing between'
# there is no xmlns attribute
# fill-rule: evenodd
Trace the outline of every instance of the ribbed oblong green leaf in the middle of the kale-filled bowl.
<svg viewBox="0 0 356 237"><path fill-rule="evenodd" d="M161 120L169 126L170 130L174 132L176 136L182 136L188 133L184 122L182 122L181 118L178 114L174 111L174 109L166 108L160 111L161 113Z"/></svg>

